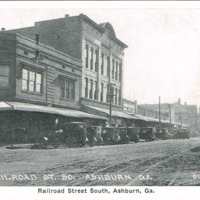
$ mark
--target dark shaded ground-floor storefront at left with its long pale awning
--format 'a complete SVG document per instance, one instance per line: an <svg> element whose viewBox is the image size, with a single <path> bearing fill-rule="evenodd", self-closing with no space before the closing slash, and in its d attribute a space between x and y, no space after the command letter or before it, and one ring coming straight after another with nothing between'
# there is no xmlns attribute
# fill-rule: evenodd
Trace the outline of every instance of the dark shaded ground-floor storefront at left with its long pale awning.
<svg viewBox="0 0 200 200"><path fill-rule="evenodd" d="M107 119L78 110L21 102L0 102L0 143L35 142L48 136L64 122L104 125Z"/></svg>

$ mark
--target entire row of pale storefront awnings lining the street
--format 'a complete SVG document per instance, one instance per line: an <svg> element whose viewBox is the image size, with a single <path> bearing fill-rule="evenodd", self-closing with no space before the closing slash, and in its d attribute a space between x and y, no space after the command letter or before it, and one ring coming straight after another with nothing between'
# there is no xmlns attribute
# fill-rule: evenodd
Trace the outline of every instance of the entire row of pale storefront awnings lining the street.
<svg viewBox="0 0 200 200"><path fill-rule="evenodd" d="M107 120L109 116L109 109L99 108L96 106L84 106L85 108L89 108L93 110L95 114L89 114L79 110L71 110L64 108L56 108L50 106L42 106L36 104L29 103L21 103L21 102L0 102L0 111L8 111L8 110L16 110L16 111L26 111L26 112L38 112L38 113L49 113L56 115L63 115L66 117L74 117L74 118L88 118L88 119L100 119ZM99 116L98 113L104 113L107 117ZM132 119L132 120L141 120L146 122L159 122L158 119L146 117L142 115L133 115L130 113L125 113L123 111L115 111L112 110L112 117L123 118L123 119ZM161 123L169 124L170 122L167 120L161 120ZM179 123L172 123L173 125L181 125ZM183 125L187 126L187 125Z"/></svg>

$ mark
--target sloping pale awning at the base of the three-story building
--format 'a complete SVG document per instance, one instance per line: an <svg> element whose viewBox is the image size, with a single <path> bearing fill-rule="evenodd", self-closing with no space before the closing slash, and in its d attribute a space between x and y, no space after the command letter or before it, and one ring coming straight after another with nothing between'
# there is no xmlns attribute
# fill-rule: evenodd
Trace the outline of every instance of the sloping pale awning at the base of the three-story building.
<svg viewBox="0 0 200 200"><path fill-rule="evenodd" d="M109 114L110 114L109 109L106 109L106 108L99 108L96 106L88 106L88 105L84 106L84 107L103 112L103 113L107 114L107 116L109 116ZM134 116L128 115L128 114L124 113L123 111L116 111L113 109L112 109L111 114L112 114L112 117L119 117L119 118L124 118L124 119L136 119Z"/></svg>

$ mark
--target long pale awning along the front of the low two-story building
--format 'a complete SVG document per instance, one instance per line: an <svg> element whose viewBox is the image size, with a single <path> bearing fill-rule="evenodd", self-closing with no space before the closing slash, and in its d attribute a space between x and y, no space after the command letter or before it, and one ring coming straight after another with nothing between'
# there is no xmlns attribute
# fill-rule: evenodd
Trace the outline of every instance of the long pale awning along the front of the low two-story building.
<svg viewBox="0 0 200 200"><path fill-rule="evenodd" d="M78 111L78 110L55 108L55 107L50 107L50 106L41 106L41 105L21 103L21 102L0 102L0 111L5 111L5 110L39 112L39 113L63 115L66 117L107 120L107 118L105 117L88 114L88 113Z"/></svg>

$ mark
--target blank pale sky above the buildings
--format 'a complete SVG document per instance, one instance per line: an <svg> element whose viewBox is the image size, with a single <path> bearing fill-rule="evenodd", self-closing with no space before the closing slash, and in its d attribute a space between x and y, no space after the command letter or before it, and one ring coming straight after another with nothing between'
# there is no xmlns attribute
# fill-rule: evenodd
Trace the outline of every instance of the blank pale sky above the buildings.
<svg viewBox="0 0 200 200"><path fill-rule="evenodd" d="M3 8L1 27L83 13L110 22L128 45L124 56L124 98L138 104L181 102L200 106L200 9L198 8ZM0 27L0 28L1 28Z"/></svg>

